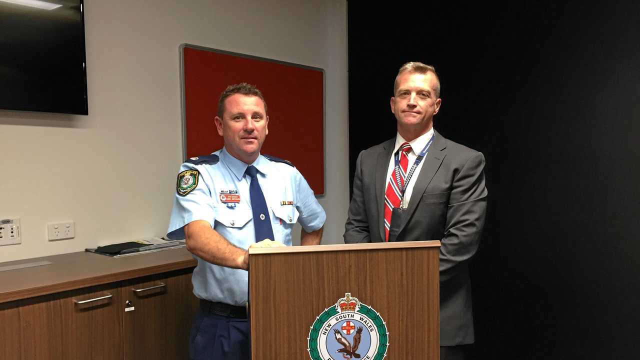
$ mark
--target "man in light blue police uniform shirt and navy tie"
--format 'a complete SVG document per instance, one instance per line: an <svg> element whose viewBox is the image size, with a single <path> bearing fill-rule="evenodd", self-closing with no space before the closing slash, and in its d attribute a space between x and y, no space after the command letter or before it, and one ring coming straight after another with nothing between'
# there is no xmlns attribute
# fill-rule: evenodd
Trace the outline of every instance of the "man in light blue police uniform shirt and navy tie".
<svg viewBox="0 0 640 360"><path fill-rule="evenodd" d="M191 359L249 359L248 248L291 245L296 221L301 245L317 245L326 215L291 163L260 154L269 122L260 90L228 86L215 122L225 146L182 164L167 237L186 238L198 260Z"/></svg>

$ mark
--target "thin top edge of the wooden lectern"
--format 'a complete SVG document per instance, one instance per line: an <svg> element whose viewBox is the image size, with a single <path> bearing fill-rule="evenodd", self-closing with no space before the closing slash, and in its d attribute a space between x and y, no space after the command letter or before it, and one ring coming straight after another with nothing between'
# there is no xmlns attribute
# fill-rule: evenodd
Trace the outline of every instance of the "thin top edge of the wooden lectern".
<svg viewBox="0 0 640 360"><path fill-rule="evenodd" d="M280 254L289 252L321 252L321 251L351 251L351 250L377 250L377 249L407 249L413 247L439 247L440 241L400 241L393 243L357 243L357 244L330 244L310 246L287 247L262 247L250 248L250 255Z"/></svg>

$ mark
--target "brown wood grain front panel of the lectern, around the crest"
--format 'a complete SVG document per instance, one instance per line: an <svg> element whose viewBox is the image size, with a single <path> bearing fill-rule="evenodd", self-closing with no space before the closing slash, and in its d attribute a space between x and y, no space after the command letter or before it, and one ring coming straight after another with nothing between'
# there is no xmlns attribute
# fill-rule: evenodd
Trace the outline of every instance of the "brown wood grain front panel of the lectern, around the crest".
<svg viewBox="0 0 640 360"><path fill-rule="evenodd" d="M345 293L387 322L389 359L438 359L438 247L250 257L253 359L308 359L316 316Z"/></svg>

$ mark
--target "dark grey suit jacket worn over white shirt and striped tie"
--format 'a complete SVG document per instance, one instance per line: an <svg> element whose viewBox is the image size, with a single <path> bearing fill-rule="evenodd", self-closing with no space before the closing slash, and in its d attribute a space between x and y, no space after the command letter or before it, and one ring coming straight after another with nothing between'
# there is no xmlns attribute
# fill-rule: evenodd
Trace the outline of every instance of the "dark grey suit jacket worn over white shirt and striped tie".
<svg viewBox="0 0 640 360"><path fill-rule="evenodd" d="M461 345L474 342L468 259L476 253L486 213L484 156L437 132L435 136L420 174L415 174L397 241L441 241L440 345ZM345 243L384 241L386 177L395 141L358 156Z"/></svg>

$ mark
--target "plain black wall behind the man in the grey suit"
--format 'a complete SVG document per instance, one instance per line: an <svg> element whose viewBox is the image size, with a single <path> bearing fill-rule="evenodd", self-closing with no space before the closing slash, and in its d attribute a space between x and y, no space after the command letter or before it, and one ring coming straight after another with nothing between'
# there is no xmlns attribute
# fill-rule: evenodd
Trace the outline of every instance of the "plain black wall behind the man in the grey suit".
<svg viewBox="0 0 640 360"><path fill-rule="evenodd" d="M640 4L348 3L350 174L395 136L393 81L435 65L435 127L484 153L478 359L637 359Z"/></svg>

